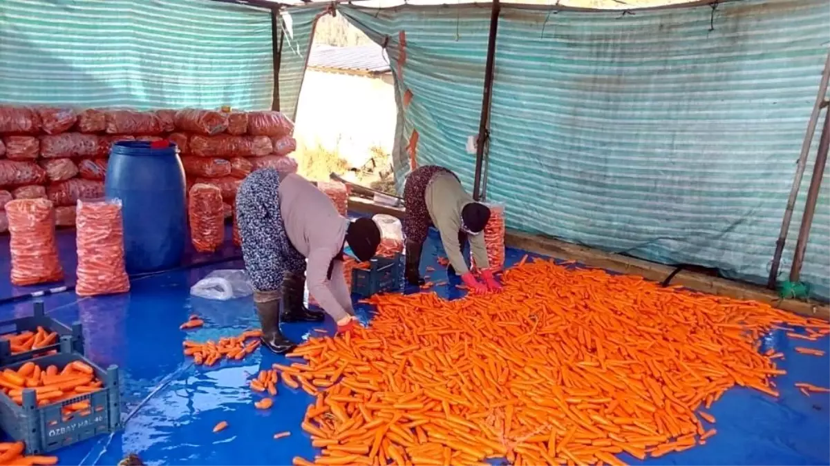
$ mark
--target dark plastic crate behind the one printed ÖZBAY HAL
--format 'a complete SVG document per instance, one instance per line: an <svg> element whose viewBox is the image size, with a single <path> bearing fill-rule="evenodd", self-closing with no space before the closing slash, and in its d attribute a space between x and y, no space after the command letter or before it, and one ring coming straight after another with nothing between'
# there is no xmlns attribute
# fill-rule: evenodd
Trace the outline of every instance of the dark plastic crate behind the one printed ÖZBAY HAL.
<svg viewBox="0 0 830 466"><path fill-rule="evenodd" d="M9 333L36 332L42 327L46 332L57 333L57 339L51 345L40 347L32 351L12 354L12 345L7 340L0 339L0 366L6 366L18 361L27 361L33 357L44 356L47 352L61 351L61 340L69 337L71 340L70 352L84 354L84 334L81 332L81 323L73 323L71 327L46 316L43 303L34 303L34 313L31 317L12 318L0 322L0 335Z"/></svg>

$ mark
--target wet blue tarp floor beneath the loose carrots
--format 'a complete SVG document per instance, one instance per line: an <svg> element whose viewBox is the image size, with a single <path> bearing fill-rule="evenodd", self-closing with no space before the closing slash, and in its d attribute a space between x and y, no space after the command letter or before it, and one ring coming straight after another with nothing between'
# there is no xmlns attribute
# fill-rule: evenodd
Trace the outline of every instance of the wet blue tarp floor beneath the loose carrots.
<svg viewBox="0 0 830 466"><path fill-rule="evenodd" d="M432 273L438 281L443 272L436 258L443 254L435 237L429 241L424 252L429 260L424 260L422 267L432 265L439 270ZM72 241L61 240L61 255L74 255L72 246ZM522 255L521 250L508 250L508 264ZM44 299L51 317L83 324L85 348L92 361L100 366L116 364L123 376L125 428L59 450L60 464L115 466L128 453L138 454L148 465L283 466L291 464L294 456L314 457L309 436L300 430L305 407L312 402L310 396L280 386L271 410L253 406L248 377L274 362L284 362L284 357L258 350L242 362L201 367L193 366L182 354L185 338L205 340L257 327L250 297L212 302L189 296L190 286L212 269L241 268L241 261L232 260L135 279L129 294L79 299L68 292ZM8 284L0 284L0 294L9 290ZM450 293L446 286L437 291L451 299L461 295L457 289ZM366 305L357 308L368 316ZM0 305L0 319L29 313L31 300ZM190 314L201 316L205 325L185 333L179 325ZM327 321L323 327L332 330L334 325ZM306 324L284 326L295 341L308 337L310 329ZM830 386L830 357L798 354L793 350L797 344L780 333L769 335L768 340L784 352L780 366L788 371L777 379L779 399L747 389L731 390L710 410L717 418L718 434L706 445L645 462L622 458L630 464L649 466L830 465L830 394L806 397L793 386L795 381ZM830 339L813 343L813 347L830 352ZM212 427L220 420L230 427L212 434ZM290 437L272 438L286 430Z"/></svg>

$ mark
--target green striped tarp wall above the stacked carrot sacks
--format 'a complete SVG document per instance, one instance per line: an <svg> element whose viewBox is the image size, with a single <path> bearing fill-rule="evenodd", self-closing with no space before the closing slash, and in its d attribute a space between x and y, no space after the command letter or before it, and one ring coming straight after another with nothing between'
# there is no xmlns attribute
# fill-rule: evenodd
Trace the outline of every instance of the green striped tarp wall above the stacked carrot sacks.
<svg viewBox="0 0 830 466"><path fill-rule="evenodd" d="M0 102L270 109L271 12L210 0L2 0Z"/></svg>

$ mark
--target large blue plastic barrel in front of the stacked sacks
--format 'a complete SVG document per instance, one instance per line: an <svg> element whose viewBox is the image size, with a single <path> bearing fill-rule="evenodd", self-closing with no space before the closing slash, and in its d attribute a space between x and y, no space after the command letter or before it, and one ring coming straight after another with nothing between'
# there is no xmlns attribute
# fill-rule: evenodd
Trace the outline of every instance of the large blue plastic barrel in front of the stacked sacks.
<svg viewBox="0 0 830 466"><path fill-rule="evenodd" d="M125 264L129 274L180 265L187 236L184 169L176 145L151 148L146 141L114 143L105 194L119 198L124 214Z"/></svg>

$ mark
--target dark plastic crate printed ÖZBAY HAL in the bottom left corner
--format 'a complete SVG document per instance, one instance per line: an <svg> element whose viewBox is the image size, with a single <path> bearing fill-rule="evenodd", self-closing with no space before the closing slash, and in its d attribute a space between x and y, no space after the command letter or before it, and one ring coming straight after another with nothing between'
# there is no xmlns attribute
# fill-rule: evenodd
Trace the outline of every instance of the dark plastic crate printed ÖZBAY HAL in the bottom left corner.
<svg viewBox="0 0 830 466"><path fill-rule="evenodd" d="M68 349L69 339L64 338L63 343L63 349ZM110 366L104 371L85 357L71 352L38 357L31 361L44 368L55 365L60 369L71 362L82 361L93 368L95 377L104 384L99 391L41 407L37 406L33 390L23 391L22 405L17 405L8 396L0 394L0 428L12 439L25 442L27 454L48 453L120 429L121 395L117 366ZM16 362L4 369L17 371L25 363ZM62 411L64 406L81 401L89 401L90 410L74 413Z"/></svg>

